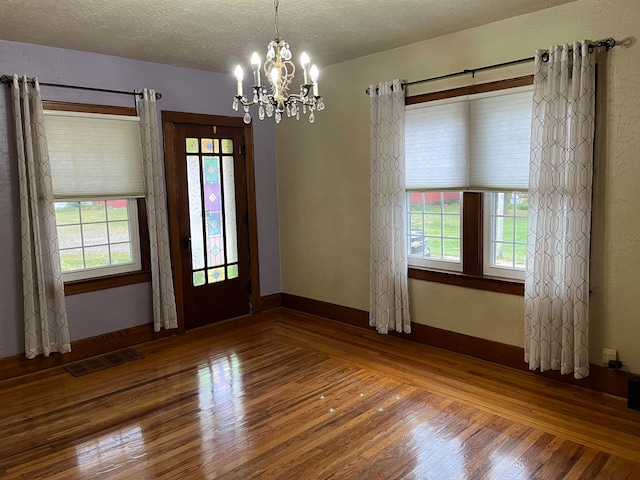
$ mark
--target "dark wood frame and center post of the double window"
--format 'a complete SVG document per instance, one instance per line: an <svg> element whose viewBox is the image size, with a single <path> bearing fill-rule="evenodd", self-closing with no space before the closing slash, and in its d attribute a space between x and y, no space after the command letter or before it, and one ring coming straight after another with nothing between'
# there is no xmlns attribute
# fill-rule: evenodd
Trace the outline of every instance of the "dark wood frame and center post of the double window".
<svg viewBox="0 0 640 480"><path fill-rule="evenodd" d="M517 77L496 82L469 85L450 90L420 94L405 98L405 105L443 100L458 96L506 90L533 84L533 75ZM489 206L487 206L489 208ZM432 268L409 265L409 278L425 280L466 288L524 295L524 281L521 279L488 275L484 269L485 223L484 192L462 192L462 271L455 272L444 268ZM443 267L445 264L443 264Z"/></svg>

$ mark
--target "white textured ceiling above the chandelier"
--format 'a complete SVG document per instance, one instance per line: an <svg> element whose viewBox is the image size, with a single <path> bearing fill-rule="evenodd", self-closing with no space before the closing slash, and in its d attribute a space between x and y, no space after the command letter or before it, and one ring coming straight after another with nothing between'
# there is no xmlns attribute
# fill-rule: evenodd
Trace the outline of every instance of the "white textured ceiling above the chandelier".
<svg viewBox="0 0 640 480"><path fill-rule="evenodd" d="M280 33L319 66L575 0L281 0ZM264 55L271 0L1 0L0 39L216 72Z"/></svg>

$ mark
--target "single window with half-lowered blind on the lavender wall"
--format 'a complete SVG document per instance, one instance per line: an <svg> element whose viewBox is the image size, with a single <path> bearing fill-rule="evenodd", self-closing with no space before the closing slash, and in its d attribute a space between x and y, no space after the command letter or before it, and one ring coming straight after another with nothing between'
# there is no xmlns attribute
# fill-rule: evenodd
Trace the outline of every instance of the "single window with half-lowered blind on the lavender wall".
<svg viewBox="0 0 640 480"><path fill-rule="evenodd" d="M94 290L145 281L140 275L127 280L143 270L147 246L140 235L146 216L139 215L144 183L135 110L58 106L45 103L45 126L65 284L93 282L87 289ZM74 108L81 111L69 111ZM106 113L91 111L96 108ZM96 283L114 275L120 280Z"/></svg>

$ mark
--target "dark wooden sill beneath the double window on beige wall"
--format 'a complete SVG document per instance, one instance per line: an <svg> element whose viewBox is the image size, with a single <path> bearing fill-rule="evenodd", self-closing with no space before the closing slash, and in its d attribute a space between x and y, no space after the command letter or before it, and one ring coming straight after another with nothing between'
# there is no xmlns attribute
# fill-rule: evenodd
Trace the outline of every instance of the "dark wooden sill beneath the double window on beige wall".
<svg viewBox="0 0 640 480"><path fill-rule="evenodd" d="M489 277L485 275L468 275L459 272L447 272L418 267L409 267L409 278L427 282L445 283L458 287L488 290L490 292L507 293L524 296L524 282L510 278Z"/></svg>

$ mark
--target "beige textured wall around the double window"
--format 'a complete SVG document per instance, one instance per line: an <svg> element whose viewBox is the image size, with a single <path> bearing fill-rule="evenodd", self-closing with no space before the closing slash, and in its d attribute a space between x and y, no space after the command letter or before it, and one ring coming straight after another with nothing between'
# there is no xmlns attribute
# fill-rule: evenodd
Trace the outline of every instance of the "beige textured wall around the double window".
<svg viewBox="0 0 640 480"><path fill-rule="evenodd" d="M530 57L554 43L638 34L638 0L581 0L322 70L310 126L276 129L283 292L368 310L369 100L364 89ZM348 38L345 38L348 41ZM603 346L640 372L640 47L599 56L591 362ZM533 72L533 64L408 94ZM410 281L413 321L522 346L522 297Z"/></svg>

